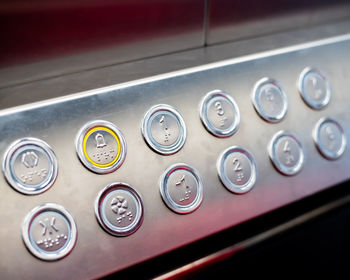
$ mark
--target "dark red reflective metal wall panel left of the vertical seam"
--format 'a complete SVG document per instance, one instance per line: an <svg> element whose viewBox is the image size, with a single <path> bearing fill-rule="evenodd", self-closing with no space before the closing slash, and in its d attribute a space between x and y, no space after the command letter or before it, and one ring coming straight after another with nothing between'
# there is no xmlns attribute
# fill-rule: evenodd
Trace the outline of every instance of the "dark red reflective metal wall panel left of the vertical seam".
<svg viewBox="0 0 350 280"><path fill-rule="evenodd" d="M200 47L203 16L204 0L3 0L0 87Z"/></svg>

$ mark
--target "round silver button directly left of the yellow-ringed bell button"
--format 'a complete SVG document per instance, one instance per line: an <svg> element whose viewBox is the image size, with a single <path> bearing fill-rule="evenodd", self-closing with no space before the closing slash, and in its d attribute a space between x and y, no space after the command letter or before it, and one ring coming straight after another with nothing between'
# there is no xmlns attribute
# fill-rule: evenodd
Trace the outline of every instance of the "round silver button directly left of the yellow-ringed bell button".
<svg viewBox="0 0 350 280"><path fill-rule="evenodd" d="M57 158L44 141L23 138L12 143L5 152L3 172L15 190L23 194L39 194L55 182Z"/></svg>

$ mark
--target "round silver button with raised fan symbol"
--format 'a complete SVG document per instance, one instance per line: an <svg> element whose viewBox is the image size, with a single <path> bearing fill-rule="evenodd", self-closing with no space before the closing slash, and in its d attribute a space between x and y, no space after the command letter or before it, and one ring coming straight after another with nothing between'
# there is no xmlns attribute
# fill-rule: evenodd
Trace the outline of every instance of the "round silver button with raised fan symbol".
<svg viewBox="0 0 350 280"><path fill-rule="evenodd" d="M142 224L141 196L130 185L112 183L97 196L95 215L101 227L115 236L134 233Z"/></svg>

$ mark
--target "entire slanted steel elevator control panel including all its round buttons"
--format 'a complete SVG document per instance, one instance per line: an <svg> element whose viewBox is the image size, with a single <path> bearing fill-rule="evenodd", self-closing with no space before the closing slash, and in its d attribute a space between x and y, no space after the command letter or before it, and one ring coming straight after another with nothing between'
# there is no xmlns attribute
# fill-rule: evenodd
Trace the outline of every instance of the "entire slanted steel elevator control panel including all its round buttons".
<svg viewBox="0 0 350 280"><path fill-rule="evenodd" d="M327 42L0 111L2 278L101 278L349 180Z"/></svg>

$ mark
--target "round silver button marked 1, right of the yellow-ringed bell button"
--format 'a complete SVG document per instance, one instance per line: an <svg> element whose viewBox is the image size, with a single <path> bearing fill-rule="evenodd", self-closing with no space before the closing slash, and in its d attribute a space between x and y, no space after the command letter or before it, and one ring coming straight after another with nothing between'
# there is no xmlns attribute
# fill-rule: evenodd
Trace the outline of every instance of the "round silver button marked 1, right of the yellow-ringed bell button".
<svg viewBox="0 0 350 280"><path fill-rule="evenodd" d="M146 143L162 155L178 152L186 141L186 126L181 114L169 105L150 108L141 125Z"/></svg>

